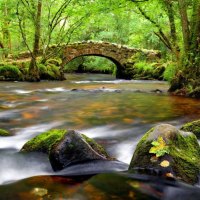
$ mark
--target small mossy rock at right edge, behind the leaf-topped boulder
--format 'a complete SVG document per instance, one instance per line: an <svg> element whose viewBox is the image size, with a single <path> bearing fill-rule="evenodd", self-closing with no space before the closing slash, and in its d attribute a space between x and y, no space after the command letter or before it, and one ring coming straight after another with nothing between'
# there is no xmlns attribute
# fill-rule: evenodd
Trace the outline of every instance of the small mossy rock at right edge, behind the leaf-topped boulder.
<svg viewBox="0 0 200 200"><path fill-rule="evenodd" d="M200 139L200 120L189 122L181 127L181 130L194 133Z"/></svg>

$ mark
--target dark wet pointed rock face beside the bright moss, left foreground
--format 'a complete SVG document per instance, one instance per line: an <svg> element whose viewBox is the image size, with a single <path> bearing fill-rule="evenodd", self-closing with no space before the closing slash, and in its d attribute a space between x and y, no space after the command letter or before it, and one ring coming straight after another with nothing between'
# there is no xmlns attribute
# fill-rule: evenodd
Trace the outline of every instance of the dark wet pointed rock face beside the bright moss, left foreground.
<svg viewBox="0 0 200 200"><path fill-rule="evenodd" d="M75 163L110 159L102 146L73 130L68 131L62 140L55 143L49 153L49 160L55 171Z"/></svg>

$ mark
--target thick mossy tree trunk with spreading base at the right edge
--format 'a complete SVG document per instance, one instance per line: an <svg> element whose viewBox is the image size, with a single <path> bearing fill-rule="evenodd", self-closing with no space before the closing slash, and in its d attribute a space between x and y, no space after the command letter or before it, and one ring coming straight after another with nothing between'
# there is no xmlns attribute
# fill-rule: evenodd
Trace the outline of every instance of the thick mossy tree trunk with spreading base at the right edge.
<svg viewBox="0 0 200 200"><path fill-rule="evenodd" d="M181 0L179 2L184 3ZM180 8L186 11L184 6L180 5ZM188 22L185 22L186 16L183 14L185 11L182 11L181 19L185 53L187 53L183 56L187 62L183 66L182 72L177 73L172 80L170 91L192 97L200 97L200 0L193 1L190 30L189 27L187 28ZM188 36L189 33L190 35Z"/></svg>

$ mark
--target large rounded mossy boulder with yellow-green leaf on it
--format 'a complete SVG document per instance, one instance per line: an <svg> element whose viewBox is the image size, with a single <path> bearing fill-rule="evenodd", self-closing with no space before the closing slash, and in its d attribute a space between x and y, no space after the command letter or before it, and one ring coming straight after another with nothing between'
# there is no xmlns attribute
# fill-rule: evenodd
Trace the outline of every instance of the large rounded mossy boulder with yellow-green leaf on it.
<svg viewBox="0 0 200 200"><path fill-rule="evenodd" d="M193 133L162 124L149 130L139 141L129 170L158 173L194 184L200 172L200 146Z"/></svg>

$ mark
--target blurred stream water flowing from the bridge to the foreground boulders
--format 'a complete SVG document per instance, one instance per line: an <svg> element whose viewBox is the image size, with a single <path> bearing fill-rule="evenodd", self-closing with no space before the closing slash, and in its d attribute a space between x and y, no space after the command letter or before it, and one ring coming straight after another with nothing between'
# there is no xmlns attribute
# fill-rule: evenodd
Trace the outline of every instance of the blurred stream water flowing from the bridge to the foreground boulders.
<svg viewBox="0 0 200 200"><path fill-rule="evenodd" d="M111 75L67 75L63 82L0 82L0 184L51 173L48 160L17 152L52 128L78 130L96 139L112 156L129 163L141 136L151 127L180 127L200 118L197 99L170 96L159 81L116 80Z"/></svg>

